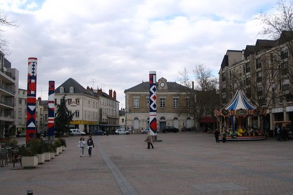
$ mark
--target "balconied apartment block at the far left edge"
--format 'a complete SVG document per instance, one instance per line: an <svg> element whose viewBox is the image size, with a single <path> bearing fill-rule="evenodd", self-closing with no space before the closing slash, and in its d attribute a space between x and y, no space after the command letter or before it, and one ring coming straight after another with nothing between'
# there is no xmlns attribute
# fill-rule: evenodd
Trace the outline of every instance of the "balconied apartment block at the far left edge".
<svg viewBox="0 0 293 195"><path fill-rule="evenodd" d="M18 86L19 71L11 68L0 51L0 137L15 136L12 127L18 125Z"/></svg>

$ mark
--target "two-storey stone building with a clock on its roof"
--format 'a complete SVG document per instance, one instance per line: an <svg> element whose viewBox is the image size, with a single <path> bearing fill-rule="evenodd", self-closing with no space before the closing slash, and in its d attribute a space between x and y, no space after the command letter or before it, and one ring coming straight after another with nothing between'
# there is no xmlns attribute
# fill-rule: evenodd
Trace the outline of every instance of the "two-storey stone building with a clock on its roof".
<svg viewBox="0 0 293 195"><path fill-rule="evenodd" d="M125 120L128 130L140 130L149 127L149 83L142 82L124 91ZM165 126L191 128L193 118L179 114L186 106L186 87L176 82L167 82L160 78L157 82L157 131Z"/></svg>

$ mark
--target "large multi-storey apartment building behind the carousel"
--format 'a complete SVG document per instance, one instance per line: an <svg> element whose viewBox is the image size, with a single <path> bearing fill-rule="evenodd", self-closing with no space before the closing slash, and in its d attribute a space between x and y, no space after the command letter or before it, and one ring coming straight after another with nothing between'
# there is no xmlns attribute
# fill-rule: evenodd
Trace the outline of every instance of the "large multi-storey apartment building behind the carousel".
<svg viewBox="0 0 293 195"><path fill-rule="evenodd" d="M293 86L286 71L292 71L292 56L284 40L292 42L293 32L283 31L277 40L257 39L255 45L231 56L227 51L219 71L220 97L228 103L237 89L245 91L259 108L268 108L264 117L267 130L274 121L293 121ZM227 63L234 58L236 62ZM238 61L237 61L238 59ZM259 118L249 118L249 125L259 125Z"/></svg>

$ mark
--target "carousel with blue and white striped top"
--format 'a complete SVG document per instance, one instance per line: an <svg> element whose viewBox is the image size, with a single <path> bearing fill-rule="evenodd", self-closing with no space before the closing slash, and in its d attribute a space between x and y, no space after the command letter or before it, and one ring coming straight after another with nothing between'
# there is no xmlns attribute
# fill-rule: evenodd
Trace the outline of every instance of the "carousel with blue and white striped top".
<svg viewBox="0 0 293 195"><path fill-rule="evenodd" d="M214 114L219 118L220 126L227 128L226 140L266 139L263 131L265 126L259 125L260 128L251 128L253 125L249 125L249 119L250 117L261 119L262 116L267 115L267 109L258 109L242 90L238 90L230 102L222 109L214 110ZM219 137L219 139L222 140L222 137Z"/></svg>

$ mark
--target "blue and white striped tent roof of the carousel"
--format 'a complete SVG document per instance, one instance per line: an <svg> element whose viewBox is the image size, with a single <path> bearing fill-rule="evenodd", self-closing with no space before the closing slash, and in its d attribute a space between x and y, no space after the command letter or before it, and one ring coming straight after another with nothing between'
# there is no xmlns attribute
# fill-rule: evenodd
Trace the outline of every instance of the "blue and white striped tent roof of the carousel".
<svg viewBox="0 0 293 195"><path fill-rule="evenodd" d="M238 90L230 102L223 108L225 110L252 110L256 109L256 106L246 97L242 90Z"/></svg>

